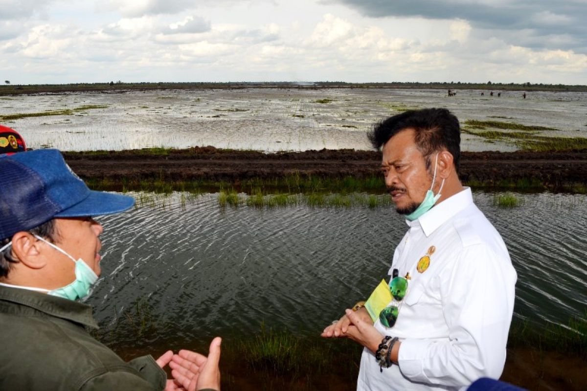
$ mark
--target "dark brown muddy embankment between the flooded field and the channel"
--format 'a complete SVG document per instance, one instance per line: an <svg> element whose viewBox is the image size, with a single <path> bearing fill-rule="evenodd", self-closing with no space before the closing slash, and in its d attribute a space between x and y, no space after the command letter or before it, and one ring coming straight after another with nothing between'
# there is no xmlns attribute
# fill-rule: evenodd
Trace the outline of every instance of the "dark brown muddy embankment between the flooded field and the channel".
<svg viewBox="0 0 587 391"><path fill-rule="evenodd" d="M289 174L323 177L379 175L380 154L372 151L327 150L264 154L214 147L170 150L163 155L140 151L83 154L64 152L83 179L198 179L238 182L279 178ZM531 179L558 189L584 183L587 152L463 152L460 176L465 182L498 183Z"/></svg>

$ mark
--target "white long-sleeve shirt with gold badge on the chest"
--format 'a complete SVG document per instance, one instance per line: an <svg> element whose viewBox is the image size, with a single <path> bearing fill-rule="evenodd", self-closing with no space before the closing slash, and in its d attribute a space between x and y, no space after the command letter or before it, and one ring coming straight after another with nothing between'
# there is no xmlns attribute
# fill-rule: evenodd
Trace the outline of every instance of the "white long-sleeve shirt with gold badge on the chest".
<svg viewBox="0 0 587 391"><path fill-rule="evenodd" d="M380 372L364 349L357 390L453 390L481 376L499 378L517 279L500 234L469 188L407 223L389 270L410 273L407 293L392 328L375 322L402 342L399 366ZM431 246L430 266L419 273Z"/></svg>

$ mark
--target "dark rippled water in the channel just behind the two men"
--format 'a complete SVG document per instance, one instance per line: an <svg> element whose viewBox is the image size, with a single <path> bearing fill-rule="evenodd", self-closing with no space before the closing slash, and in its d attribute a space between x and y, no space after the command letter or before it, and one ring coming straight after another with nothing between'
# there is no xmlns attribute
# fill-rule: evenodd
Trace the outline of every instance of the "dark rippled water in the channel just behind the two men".
<svg viewBox="0 0 587 391"><path fill-rule="evenodd" d="M88 302L106 329L148 302L158 342L250 335L261 322L318 334L386 276L406 231L390 206L221 208L217 194L133 195L137 208L99 219L104 278ZM517 196L521 206L501 208L474 194L518 272L515 316L584 317L587 196Z"/></svg>

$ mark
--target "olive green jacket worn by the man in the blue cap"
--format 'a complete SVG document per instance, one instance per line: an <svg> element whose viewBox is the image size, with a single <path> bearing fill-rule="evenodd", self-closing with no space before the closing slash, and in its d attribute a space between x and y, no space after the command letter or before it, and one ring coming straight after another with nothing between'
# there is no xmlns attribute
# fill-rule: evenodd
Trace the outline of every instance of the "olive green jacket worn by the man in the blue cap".
<svg viewBox="0 0 587 391"><path fill-rule="evenodd" d="M158 390L151 356L124 362L92 338L92 307L0 285L0 390Z"/></svg>

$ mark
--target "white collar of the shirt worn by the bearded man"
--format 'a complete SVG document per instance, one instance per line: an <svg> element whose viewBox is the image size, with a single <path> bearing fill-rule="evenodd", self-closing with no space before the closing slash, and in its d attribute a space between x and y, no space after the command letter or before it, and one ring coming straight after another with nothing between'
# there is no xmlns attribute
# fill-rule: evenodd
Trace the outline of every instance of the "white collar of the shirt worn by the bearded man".
<svg viewBox="0 0 587 391"><path fill-rule="evenodd" d="M410 222L406 220L410 227L420 226L426 237L430 236L438 227L446 223L451 217L458 212L467 208L473 203L471 188L464 188L463 191L450 196L443 202L434 205L428 212L420 216L419 219Z"/></svg>

